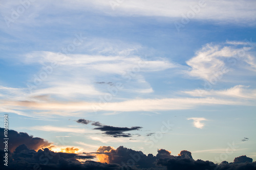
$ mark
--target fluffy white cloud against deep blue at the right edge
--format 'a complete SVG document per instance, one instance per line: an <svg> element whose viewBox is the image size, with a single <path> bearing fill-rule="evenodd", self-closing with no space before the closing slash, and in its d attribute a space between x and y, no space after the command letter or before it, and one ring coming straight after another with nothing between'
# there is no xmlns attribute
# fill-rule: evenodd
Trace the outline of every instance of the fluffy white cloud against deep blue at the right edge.
<svg viewBox="0 0 256 170"><path fill-rule="evenodd" d="M231 64L236 64L236 70L243 68L256 71L256 59L249 52L252 48L249 46L251 44L246 43L244 47L237 47L237 44L244 45L244 43L236 41L218 45L206 44L196 52L195 57L186 61L187 65L191 67L186 73L191 77L212 82L215 79L221 79L224 74L233 69ZM242 61L247 65L241 64Z"/></svg>

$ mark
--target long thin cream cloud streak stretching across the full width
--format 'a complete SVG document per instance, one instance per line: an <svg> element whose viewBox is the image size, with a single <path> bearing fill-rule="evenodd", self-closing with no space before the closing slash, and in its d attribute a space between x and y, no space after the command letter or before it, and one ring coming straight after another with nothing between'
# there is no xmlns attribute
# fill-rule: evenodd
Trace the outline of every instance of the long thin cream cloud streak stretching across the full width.
<svg viewBox="0 0 256 170"><path fill-rule="evenodd" d="M253 105L253 101L217 99L217 98L171 98L171 99L136 99L124 102L20 102L3 101L3 107L12 109L23 108L37 110L35 114L48 111L48 115L77 116L84 112L94 111L158 111L158 110L183 110L203 105ZM45 114L43 114L45 116Z"/></svg>

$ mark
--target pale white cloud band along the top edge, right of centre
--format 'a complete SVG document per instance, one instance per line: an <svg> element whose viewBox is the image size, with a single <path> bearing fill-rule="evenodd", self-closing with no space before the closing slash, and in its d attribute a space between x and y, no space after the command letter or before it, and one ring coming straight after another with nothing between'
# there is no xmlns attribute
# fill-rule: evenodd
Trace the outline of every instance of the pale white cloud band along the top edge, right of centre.
<svg viewBox="0 0 256 170"><path fill-rule="evenodd" d="M111 14L121 15L143 15L143 16L164 16L181 17L192 11L190 6L196 6L200 1L168 1L168 0L147 0L147 1L124 1L115 7ZM109 6L102 1L94 1L96 5ZM226 20L238 23L255 20L255 2L249 1L205 1L205 7L199 7L199 12L195 14L196 19ZM254 17L252 17L252 15ZM244 19L244 20L243 20Z"/></svg>

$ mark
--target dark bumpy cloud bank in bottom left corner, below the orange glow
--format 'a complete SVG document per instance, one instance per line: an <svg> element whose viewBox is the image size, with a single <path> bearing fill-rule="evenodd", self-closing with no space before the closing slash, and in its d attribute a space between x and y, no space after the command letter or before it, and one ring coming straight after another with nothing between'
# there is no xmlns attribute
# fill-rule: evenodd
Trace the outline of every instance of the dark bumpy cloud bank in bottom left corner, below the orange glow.
<svg viewBox="0 0 256 170"><path fill-rule="evenodd" d="M0 150L1 156L4 154ZM94 158L94 156L80 156L77 154L69 153L55 153L49 149L30 150L25 144L20 145L9 156L10 162L8 166L0 163L0 169L10 170L25 170L25 169L41 169L41 170L89 170L89 169L102 169L102 170L121 170L121 166L118 164L106 164L88 159ZM84 162L79 162L77 159L84 159Z"/></svg>

